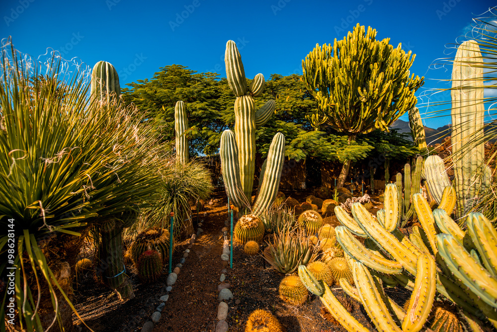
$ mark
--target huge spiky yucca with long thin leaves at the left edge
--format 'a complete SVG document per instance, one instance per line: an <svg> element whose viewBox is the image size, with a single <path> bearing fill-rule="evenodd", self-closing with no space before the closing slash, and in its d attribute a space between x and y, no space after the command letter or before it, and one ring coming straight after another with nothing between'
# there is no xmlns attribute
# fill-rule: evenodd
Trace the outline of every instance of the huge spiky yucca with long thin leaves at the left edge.
<svg viewBox="0 0 497 332"><path fill-rule="evenodd" d="M9 238L15 249L0 273L16 267L8 270L15 271L16 330L72 329L83 235L108 219L122 221L157 183L158 165L145 158L152 149L129 110L89 99L86 72L68 68L56 57L40 64L10 43L1 48L0 227L13 236L2 231L0 254L7 258ZM4 331L12 326L6 293L2 300Z"/></svg>

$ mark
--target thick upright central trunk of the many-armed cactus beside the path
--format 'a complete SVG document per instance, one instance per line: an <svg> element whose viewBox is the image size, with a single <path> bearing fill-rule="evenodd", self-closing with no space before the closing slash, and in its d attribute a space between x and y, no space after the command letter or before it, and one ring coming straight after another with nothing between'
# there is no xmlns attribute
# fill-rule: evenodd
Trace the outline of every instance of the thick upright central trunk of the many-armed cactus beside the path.
<svg viewBox="0 0 497 332"><path fill-rule="evenodd" d="M250 96L237 97L235 101L235 137L238 145L240 180L245 199L252 197L255 173L255 110Z"/></svg>

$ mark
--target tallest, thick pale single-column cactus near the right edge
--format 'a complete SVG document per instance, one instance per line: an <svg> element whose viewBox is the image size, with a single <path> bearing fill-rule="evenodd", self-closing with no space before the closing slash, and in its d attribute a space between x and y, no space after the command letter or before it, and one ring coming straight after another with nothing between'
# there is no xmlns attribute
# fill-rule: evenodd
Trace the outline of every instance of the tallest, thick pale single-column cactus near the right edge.
<svg viewBox="0 0 497 332"><path fill-rule="evenodd" d="M463 42L452 68L452 160L457 195L456 216L470 211L481 184L483 141L483 61L476 41Z"/></svg>

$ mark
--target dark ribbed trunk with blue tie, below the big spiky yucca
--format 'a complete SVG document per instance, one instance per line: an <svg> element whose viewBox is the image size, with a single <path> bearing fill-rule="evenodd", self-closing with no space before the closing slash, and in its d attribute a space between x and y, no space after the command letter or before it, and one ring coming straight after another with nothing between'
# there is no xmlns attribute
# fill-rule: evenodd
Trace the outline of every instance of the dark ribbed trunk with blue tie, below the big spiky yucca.
<svg viewBox="0 0 497 332"><path fill-rule="evenodd" d="M97 275L101 281L117 291L121 300L135 297L133 287L124 271L123 228L122 221L114 220L110 229L100 229L100 245L98 248Z"/></svg>

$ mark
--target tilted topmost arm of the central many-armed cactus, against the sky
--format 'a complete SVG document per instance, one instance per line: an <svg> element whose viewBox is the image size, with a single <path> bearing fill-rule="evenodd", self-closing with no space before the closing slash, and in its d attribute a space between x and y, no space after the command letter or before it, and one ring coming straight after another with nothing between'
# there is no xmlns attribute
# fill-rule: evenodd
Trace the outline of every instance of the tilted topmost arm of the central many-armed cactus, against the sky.
<svg viewBox="0 0 497 332"><path fill-rule="evenodd" d="M233 40L228 40L226 43L226 52L224 55L226 64L226 78L231 91L237 97L247 94L247 80L245 79L244 64L242 56L238 51L237 44Z"/></svg>

